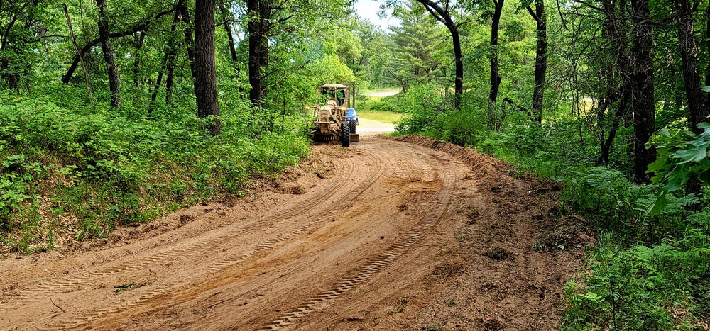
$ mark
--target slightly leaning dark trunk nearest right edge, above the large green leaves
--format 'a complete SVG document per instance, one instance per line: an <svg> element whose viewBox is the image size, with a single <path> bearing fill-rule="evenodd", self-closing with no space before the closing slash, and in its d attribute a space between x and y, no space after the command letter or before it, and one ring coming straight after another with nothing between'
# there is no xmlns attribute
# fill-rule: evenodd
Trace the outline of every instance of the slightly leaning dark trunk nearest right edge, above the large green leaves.
<svg viewBox="0 0 710 331"><path fill-rule="evenodd" d="M675 0L675 8L678 19L678 43L683 67L683 84L685 85L685 96L690 109L688 119L691 130L696 134L700 134L702 130L697 125L708 120L709 111L700 84L698 48L695 45L692 7L688 0ZM697 177L693 177L688 181L685 191L687 194L702 196L702 184ZM692 206L694 210L699 210L699 208L701 208L699 204Z"/></svg>

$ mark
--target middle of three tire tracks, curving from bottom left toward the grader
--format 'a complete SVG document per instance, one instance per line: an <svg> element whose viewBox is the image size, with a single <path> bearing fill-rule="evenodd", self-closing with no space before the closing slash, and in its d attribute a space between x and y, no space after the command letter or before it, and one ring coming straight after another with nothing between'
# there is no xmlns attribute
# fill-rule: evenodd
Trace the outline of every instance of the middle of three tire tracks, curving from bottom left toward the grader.
<svg viewBox="0 0 710 331"><path fill-rule="evenodd" d="M194 293L192 293L191 291L187 291L187 293L180 293L179 292L179 288L180 288L180 286L182 286L182 284L190 283L190 282L195 281L197 279L204 279L204 278L212 277L214 274L219 273L222 269L224 269L226 267L231 267L234 264L238 264L239 262L243 262L246 259L250 259L252 257L257 256L258 254L262 254L263 252L266 252L269 249L272 249L273 247L276 247L277 245L279 245L287 240L290 240L294 237L297 237L298 235L301 235L303 232L310 230L311 228L313 228L315 225L317 225L319 223L324 223L324 222L327 222L329 220L336 218L338 208L340 208L341 206L344 206L349 201L353 201L357 196L361 195L362 193L364 193L364 191L366 191L373 184L375 184L377 179L379 179L382 176L382 174L385 172L386 168L384 167L384 164L392 162L391 160L388 160L388 162L383 162L383 158L380 155L374 155L374 156L377 159L377 162L376 162L377 167L376 167L376 169L371 169L371 172L369 172L366 179L364 179L364 184L361 184L361 185L357 186L356 188L351 189L349 191L349 193L346 194L346 196L339 198L339 200L337 202L330 203L333 206L329 207L327 209L327 211L324 211L322 213L317 213L315 215L308 217L308 218L311 218L312 220L310 220L309 222L307 222L304 225L301 225L299 228L297 228L293 232L290 232L286 235L281 235L279 237L270 238L268 240L265 240L265 241L259 243L258 245L256 245L256 248L253 249L251 252L247 252L245 254L241 254L241 255L237 255L237 256L227 255L226 257L222 257L217 262L209 264L207 271L204 271L200 274L193 274L192 276L190 276L190 278L184 279L184 280L180 281L180 283L178 283L178 284L165 284L165 285L161 285L161 286L156 286L152 291L149 291L148 293L144 293L142 296L140 296L137 299L134 299L131 301L111 303L111 306L113 306L113 308L100 308L97 310L93 310L91 312L85 313L85 315L82 316L81 318L72 319L72 320L62 320L60 323L58 323L58 325L51 325L49 327L40 327L38 330L65 330L68 328L81 327L82 325L86 325L87 323L92 322L96 318L102 318L105 315L119 313L122 310L129 309L133 306L136 306L136 305L139 305L142 303L146 303L147 301L150 301L152 298L162 296L167 293L177 292L175 294L170 295L170 301L173 301L173 302L180 302L182 300L185 300L185 298L188 298L188 299L191 298L194 295ZM348 159L348 161L349 161L349 168L351 169L351 174L353 174L355 172L354 171L355 167L353 167L351 160ZM334 186L338 186L337 183L335 183ZM339 187L338 187L338 189L339 189ZM320 201L320 200L322 200L322 198L320 196L314 196L310 200L312 200L312 201L319 200ZM327 203L327 202L323 202L323 203ZM319 204L322 204L322 203L314 203L313 206L317 206ZM290 213L290 212L293 212L293 211L288 211L285 213ZM291 218L294 218L294 217L291 217ZM290 218L284 218L282 221L286 221L288 219L290 219ZM263 223L263 222L261 222L261 223ZM263 225L261 223L252 225L249 227L249 229L256 228L258 225ZM229 236L224 236L224 237L229 237L229 239L233 239L235 237L238 237L239 235L241 235L244 232L246 232L246 231L242 231L239 234L229 235ZM200 289L204 289L204 287L205 287L204 284L206 284L208 282L202 281L201 283L202 284L197 285L195 287L198 287Z"/></svg>

